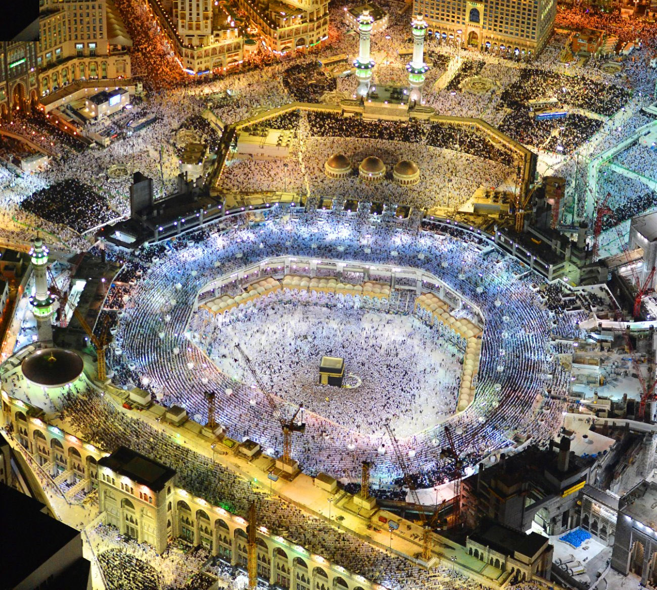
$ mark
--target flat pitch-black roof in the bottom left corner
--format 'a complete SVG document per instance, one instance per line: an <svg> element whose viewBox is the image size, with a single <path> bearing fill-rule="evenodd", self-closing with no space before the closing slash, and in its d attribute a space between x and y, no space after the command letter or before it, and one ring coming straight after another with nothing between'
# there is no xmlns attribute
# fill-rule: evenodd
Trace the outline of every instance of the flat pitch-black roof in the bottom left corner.
<svg viewBox="0 0 657 590"><path fill-rule="evenodd" d="M43 508L34 498L0 484L0 528L7 532L8 541L0 551L3 588L18 585L79 535L74 528L41 512ZM79 543L82 545L81 539Z"/></svg>

